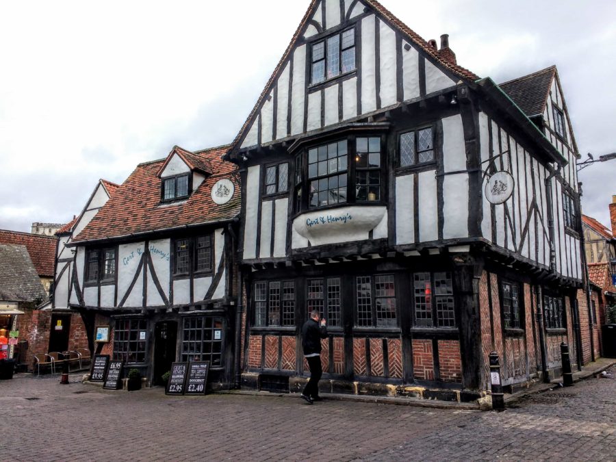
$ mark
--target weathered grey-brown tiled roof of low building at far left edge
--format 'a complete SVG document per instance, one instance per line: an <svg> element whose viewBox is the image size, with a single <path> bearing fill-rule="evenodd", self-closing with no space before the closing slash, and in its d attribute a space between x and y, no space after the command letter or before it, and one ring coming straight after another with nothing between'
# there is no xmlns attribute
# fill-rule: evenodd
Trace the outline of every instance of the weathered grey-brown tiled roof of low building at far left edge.
<svg viewBox="0 0 616 462"><path fill-rule="evenodd" d="M0 301L34 302L47 297L24 245L0 244Z"/></svg>

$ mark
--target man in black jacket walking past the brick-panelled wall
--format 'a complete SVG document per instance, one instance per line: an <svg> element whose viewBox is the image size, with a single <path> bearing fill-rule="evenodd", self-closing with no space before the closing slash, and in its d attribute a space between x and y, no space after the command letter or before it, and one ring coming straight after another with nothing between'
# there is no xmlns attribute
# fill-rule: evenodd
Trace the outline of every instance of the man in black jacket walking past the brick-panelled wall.
<svg viewBox="0 0 616 462"><path fill-rule="evenodd" d="M302 346L304 357L310 368L310 378L302 392L302 398L309 405L314 401L320 401L319 381L323 374L321 366L321 339L327 337L325 320L321 319L321 313L313 309L310 318L302 326Z"/></svg>

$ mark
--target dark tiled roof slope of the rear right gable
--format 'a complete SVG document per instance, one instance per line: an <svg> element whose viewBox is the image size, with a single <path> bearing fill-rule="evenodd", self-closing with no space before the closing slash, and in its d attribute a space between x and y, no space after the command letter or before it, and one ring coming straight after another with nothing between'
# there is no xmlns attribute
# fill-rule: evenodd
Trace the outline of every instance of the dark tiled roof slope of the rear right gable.
<svg viewBox="0 0 616 462"><path fill-rule="evenodd" d="M554 75L556 66L550 66L524 77L506 81L499 86L527 117L540 116L548 102Z"/></svg>

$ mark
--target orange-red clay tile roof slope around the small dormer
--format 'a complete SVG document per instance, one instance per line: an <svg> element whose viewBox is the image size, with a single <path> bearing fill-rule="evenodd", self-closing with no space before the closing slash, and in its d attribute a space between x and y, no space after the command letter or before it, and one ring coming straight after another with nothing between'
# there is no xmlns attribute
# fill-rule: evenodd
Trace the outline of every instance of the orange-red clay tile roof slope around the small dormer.
<svg viewBox="0 0 616 462"><path fill-rule="evenodd" d="M215 173L188 199L177 203L160 202L161 180L157 172L166 159L139 164L73 242L123 238L233 219L240 212L240 182L238 166L222 160L228 148L221 146L194 153L208 162ZM211 188L222 178L233 181L235 193L228 203L216 205L211 200Z"/></svg>

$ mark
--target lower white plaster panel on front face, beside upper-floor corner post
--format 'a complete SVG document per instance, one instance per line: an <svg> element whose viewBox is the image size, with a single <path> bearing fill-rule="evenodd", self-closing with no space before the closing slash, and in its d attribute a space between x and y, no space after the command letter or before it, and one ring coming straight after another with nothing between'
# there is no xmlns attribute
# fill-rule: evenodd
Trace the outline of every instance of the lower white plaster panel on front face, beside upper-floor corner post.
<svg viewBox="0 0 616 462"><path fill-rule="evenodd" d="M443 179L443 238L468 237L468 174L446 175Z"/></svg>

